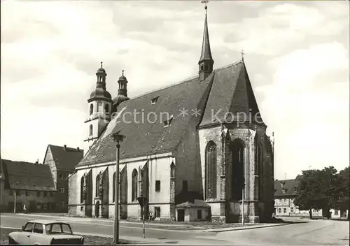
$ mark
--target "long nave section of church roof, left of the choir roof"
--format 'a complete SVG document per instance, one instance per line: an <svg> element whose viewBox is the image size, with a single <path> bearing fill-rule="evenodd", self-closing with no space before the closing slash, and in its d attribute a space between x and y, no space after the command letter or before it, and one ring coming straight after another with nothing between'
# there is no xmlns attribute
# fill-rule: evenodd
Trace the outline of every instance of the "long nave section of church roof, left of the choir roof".
<svg viewBox="0 0 350 246"><path fill-rule="evenodd" d="M183 137L191 117L191 110L200 103L204 92L211 83L212 76L198 82L198 78L190 78L176 85L166 87L143 96L120 103L118 112L123 117L115 117L107 126L78 166L97 164L116 160L116 143L111 139L111 133L120 131L126 138L120 144L120 158L137 157L174 150ZM152 99L157 98L152 104ZM188 110L189 115L179 115L181 109ZM134 119L134 112L138 113ZM157 121L152 123L157 115ZM170 125L165 127L163 121L167 114L172 117ZM145 117L142 117L145 115ZM147 120L147 115L151 122ZM144 119L144 122L142 122ZM139 122L139 123L138 123ZM118 124L117 124L118 123Z"/></svg>

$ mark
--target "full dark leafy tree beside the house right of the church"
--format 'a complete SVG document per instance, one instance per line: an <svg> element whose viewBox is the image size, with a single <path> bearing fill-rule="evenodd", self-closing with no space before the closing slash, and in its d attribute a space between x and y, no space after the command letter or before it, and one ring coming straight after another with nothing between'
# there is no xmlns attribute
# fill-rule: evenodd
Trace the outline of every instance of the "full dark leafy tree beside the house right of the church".
<svg viewBox="0 0 350 246"><path fill-rule="evenodd" d="M330 166L322 170L302 171L302 175L297 176L299 180L299 193L294 199L294 204L300 210L309 210L310 219L311 210L329 209L337 201L337 170Z"/></svg>

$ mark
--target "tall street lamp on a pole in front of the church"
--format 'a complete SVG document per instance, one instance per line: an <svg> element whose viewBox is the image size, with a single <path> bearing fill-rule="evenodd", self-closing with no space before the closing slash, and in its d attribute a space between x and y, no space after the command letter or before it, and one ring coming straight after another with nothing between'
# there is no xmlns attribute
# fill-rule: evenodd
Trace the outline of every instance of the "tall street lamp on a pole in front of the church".
<svg viewBox="0 0 350 246"><path fill-rule="evenodd" d="M113 133L111 136L115 142L117 142L117 152L116 152L116 184L114 186L115 194L115 206L114 206L114 226L113 226L113 238L114 243L118 244L119 242L119 142L123 142L125 136L119 134L120 131Z"/></svg>

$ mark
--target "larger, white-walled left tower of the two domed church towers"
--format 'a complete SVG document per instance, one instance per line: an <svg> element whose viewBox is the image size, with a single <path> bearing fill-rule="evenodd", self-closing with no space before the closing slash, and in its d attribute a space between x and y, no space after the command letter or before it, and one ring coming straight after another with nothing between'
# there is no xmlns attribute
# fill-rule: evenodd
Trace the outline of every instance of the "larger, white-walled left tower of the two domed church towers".
<svg viewBox="0 0 350 246"><path fill-rule="evenodd" d="M88 102L89 117L85 121L87 138L84 140L90 147L111 121L112 96L106 90L106 70L101 67L97 70L96 89L90 94Z"/></svg>

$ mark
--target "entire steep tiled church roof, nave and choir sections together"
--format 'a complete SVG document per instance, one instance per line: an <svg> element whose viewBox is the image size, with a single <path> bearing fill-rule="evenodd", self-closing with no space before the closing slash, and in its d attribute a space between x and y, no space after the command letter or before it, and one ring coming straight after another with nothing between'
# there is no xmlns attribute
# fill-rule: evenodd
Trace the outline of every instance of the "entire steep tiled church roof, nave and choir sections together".
<svg viewBox="0 0 350 246"><path fill-rule="evenodd" d="M155 98L158 100L152 104L151 100ZM116 143L111 139L111 133L116 131L126 136L120 143L121 159L171 152L179 145L191 122L198 122L200 126L217 124L211 121L212 112L221 112L218 115L223 119L225 112L229 111L244 110L248 115L249 107L253 107L253 112L258 110L244 63L238 61L216 69L203 81L198 77L189 78L120 103L117 108L119 115L109 122L78 166L115 161ZM188 110L185 117L181 115L183 108ZM197 117L193 115L195 108L200 112ZM139 113L139 122L132 120L135 111ZM155 123L147 120L151 112L158 117ZM166 119L163 116L160 120L161 113L168 113L171 117L170 126L164 127L162 121ZM145 115L144 122L141 122L142 114ZM151 120L153 116L151 114Z"/></svg>

